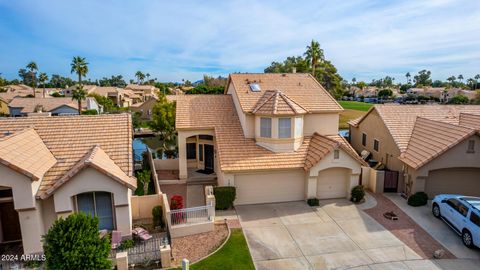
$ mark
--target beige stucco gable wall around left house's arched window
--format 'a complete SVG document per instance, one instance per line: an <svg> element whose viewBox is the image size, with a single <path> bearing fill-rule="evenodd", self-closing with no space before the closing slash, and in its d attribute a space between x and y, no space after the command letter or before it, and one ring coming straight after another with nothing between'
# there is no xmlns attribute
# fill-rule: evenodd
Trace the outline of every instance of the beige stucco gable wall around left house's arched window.
<svg viewBox="0 0 480 270"><path fill-rule="evenodd" d="M72 198L80 193L104 191L113 194L115 223L123 236L131 235L131 190L94 168L86 168L72 177L53 195L55 212L75 211Z"/></svg>

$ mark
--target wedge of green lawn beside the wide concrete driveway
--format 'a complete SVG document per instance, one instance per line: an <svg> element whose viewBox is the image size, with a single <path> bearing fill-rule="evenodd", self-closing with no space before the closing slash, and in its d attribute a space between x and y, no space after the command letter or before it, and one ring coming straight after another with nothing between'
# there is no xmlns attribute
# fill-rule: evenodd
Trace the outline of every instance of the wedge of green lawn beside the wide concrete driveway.
<svg viewBox="0 0 480 270"><path fill-rule="evenodd" d="M254 270L255 267L242 230L232 229L227 243L217 253L190 265L190 269Z"/></svg>

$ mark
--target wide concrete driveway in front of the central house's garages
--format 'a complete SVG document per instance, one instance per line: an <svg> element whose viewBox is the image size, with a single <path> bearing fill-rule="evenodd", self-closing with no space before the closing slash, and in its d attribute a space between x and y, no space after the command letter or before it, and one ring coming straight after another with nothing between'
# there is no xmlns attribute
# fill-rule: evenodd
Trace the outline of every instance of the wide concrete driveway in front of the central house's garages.
<svg viewBox="0 0 480 270"><path fill-rule="evenodd" d="M346 200L237 206L257 269L440 269Z"/></svg>

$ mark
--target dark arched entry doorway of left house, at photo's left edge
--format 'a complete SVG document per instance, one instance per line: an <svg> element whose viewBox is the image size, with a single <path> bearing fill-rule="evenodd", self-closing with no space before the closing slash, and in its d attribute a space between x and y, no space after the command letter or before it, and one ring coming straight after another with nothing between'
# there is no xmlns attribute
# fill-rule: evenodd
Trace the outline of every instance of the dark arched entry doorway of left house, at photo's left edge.
<svg viewBox="0 0 480 270"><path fill-rule="evenodd" d="M13 207L13 202L0 203L0 220L3 242L22 240L18 212Z"/></svg>

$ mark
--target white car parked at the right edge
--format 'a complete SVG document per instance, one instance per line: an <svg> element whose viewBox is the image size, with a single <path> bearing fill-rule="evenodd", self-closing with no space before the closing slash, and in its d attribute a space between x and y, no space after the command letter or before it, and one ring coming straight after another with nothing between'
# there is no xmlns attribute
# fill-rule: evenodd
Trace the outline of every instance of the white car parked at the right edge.
<svg viewBox="0 0 480 270"><path fill-rule="evenodd" d="M432 213L462 236L467 247L480 247L480 198L441 194L432 201Z"/></svg>

